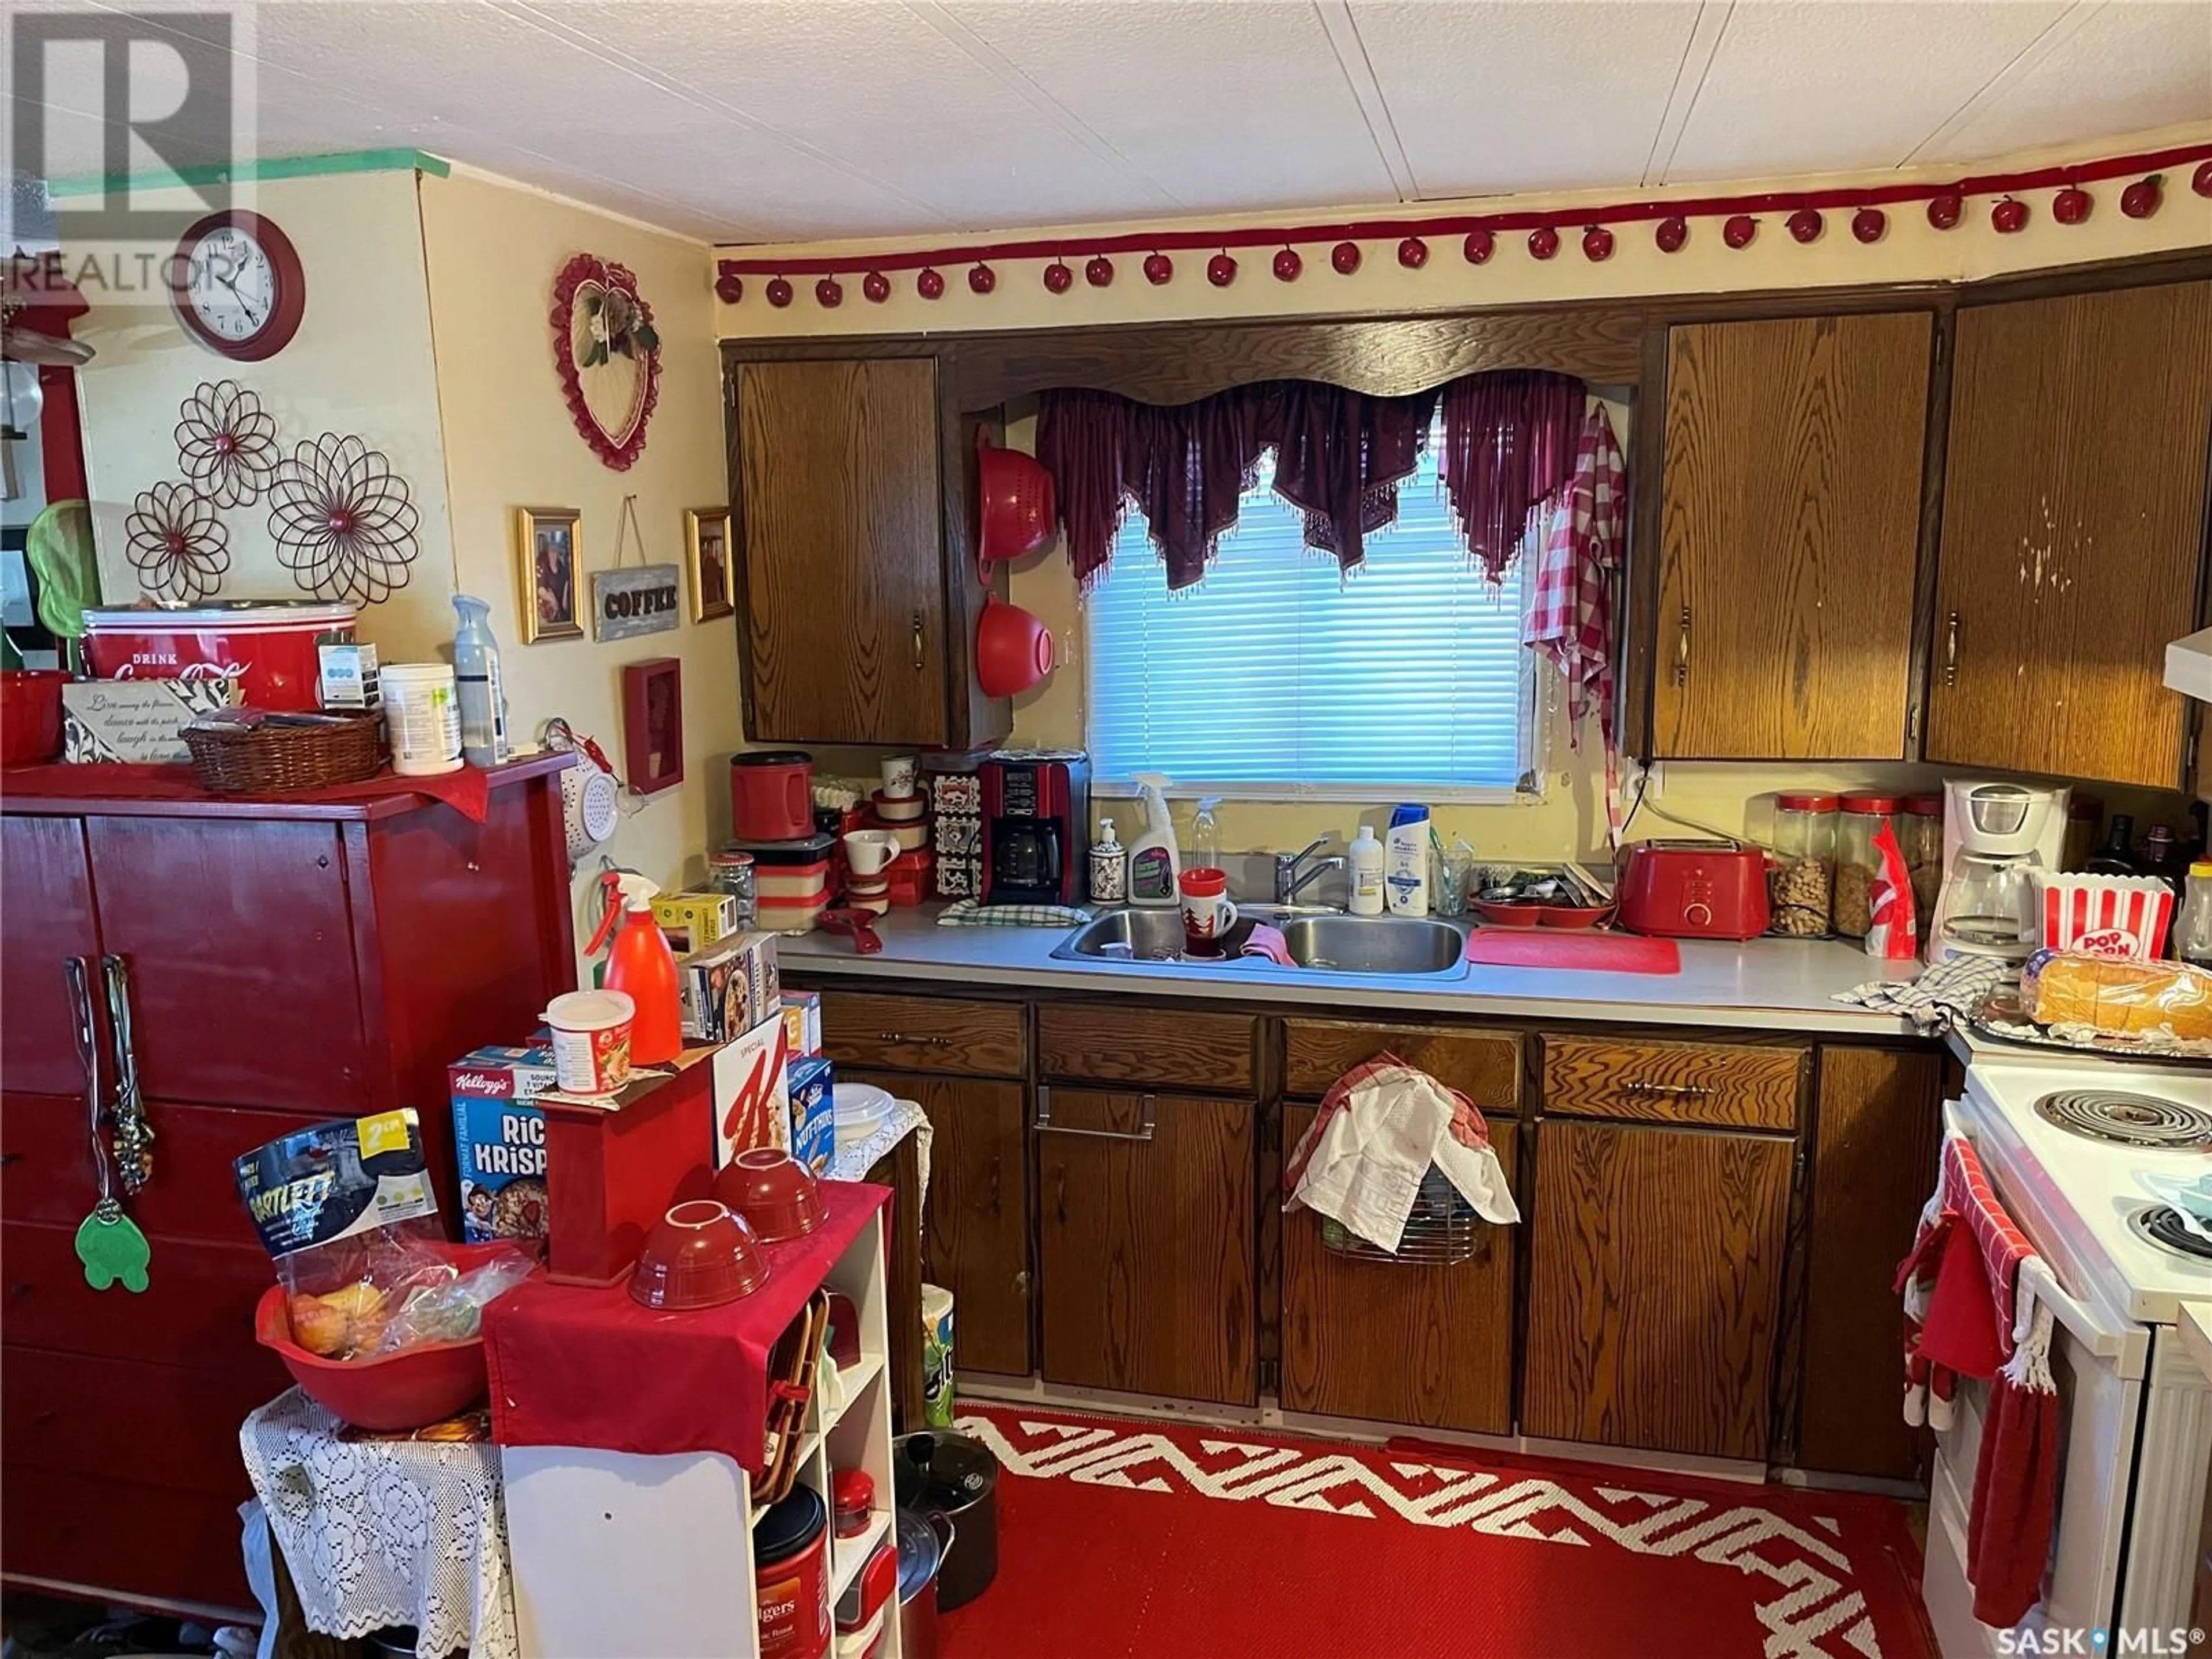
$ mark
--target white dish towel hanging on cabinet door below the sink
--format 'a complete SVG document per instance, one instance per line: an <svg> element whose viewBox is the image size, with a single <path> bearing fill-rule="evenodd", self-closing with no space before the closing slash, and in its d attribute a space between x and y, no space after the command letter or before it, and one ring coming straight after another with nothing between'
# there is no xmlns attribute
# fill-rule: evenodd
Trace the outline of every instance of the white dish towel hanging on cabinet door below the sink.
<svg viewBox="0 0 2212 1659"><path fill-rule="evenodd" d="M1321 1102L1283 1166L1283 1208L1303 1203L1398 1254L1431 1164L1484 1221L1520 1221L1475 1104L1396 1055L1376 1055L1338 1077Z"/></svg>

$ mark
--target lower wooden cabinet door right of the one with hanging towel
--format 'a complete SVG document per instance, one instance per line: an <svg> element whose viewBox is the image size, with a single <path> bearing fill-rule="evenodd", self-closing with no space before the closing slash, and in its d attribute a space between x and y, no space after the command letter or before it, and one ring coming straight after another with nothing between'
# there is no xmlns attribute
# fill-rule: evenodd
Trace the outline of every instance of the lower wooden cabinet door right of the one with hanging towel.
<svg viewBox="0 0 2212 1659"><path fill-rule="evenodd" d="M1522 1431L1765 1458L1796 1144L1546 1119Z"/></svg>

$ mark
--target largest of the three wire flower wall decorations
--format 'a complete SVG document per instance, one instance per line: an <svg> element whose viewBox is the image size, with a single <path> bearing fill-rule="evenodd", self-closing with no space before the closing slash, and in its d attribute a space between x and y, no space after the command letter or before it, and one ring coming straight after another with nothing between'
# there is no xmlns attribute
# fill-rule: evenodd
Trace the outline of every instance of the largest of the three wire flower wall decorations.
<svg viewBox="0 0 2212 1659"><path fill-rule="evenodd" d="M380 604L414 575L416 509L407 480L352 434L301 440L270 484L276 560L316 599Z"/></svg>

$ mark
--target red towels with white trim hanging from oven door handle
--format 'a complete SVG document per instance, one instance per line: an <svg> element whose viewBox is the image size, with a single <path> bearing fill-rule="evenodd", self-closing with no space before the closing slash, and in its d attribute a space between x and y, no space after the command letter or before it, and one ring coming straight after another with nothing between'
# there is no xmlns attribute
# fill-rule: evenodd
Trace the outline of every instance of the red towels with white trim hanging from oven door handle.
<svg viewBox="0 0 2212 1659"><path fill-rule="evenodd" d="M1898 1270L1905 1420L1949 1429L1955 1378L1991 1385L1966 1511L1966 1582L1973 1617L2000 1630L2035 1606L2057 1504L2051 1310L2022 1281L2028 1261L2035 1250L1997 1203L1973 1144L1944 1135L1936 1194Z"/></svg>

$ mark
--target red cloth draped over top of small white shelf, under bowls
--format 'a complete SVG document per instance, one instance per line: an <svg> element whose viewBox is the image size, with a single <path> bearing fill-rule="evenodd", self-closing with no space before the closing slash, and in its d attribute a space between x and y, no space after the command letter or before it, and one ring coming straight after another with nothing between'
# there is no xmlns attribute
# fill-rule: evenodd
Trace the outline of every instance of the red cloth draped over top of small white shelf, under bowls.
<svg viewBox="0 0 2212 1659"><path fill-rule="evenodd" d="M823 1181L827 1214L805 1239L768 1245L768 1283L688 1314L533 1279L484 1310L491 1438L502 1447L597 1447L657 1455L721 1451L759 1471L768 1354L823 1274L891 1201L891 1188Z"/></svg>

